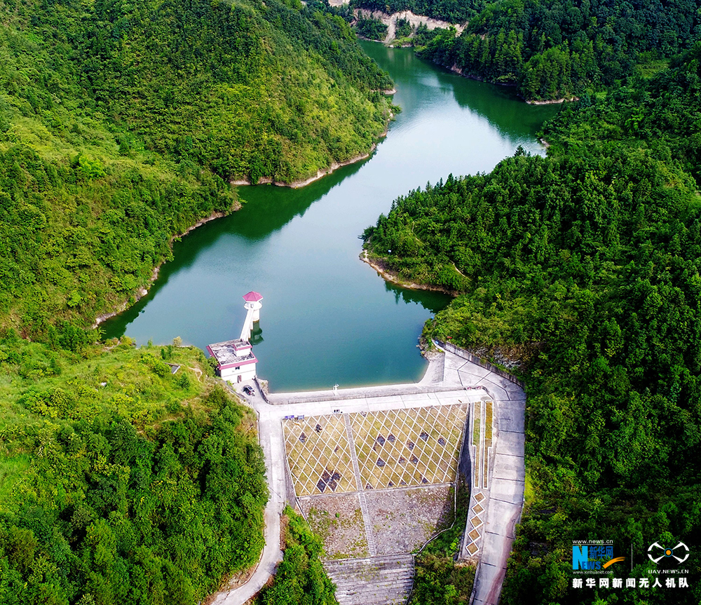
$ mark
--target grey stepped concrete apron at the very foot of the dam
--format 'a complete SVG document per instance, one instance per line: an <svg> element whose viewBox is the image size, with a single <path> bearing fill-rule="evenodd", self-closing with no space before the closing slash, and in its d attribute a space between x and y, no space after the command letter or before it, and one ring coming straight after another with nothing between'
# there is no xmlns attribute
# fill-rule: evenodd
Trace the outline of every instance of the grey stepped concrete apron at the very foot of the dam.
<svg viewBox="0 0 701 605"><path fill-rule="evenodd" d="M339 605L404 605L414 583L414 557L394 555L327 561Z"/></svg>

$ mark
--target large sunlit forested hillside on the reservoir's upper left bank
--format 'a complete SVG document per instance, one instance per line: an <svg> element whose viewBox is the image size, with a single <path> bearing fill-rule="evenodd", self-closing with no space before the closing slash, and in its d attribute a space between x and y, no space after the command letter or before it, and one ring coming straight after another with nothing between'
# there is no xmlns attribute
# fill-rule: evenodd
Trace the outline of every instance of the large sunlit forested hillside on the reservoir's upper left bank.
<svg viewBox="0 0 701 605"><path fill-rule="evenodd" d="M301 4L0 4L0 327L44 337L135 296L170 239L367 153L387 74Z"/></svg>

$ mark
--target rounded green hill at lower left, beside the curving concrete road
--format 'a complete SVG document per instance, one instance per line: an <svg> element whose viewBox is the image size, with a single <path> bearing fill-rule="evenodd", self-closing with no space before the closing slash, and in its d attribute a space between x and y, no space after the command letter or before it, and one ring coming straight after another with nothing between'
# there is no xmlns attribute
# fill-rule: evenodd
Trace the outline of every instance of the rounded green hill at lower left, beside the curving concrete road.
<svg viewBox="0 0 701 605"><path fill-rule="evenodd" d="M201 351L93 337L0 339L0 603L199 601L263 547L254 417Z"/></svg>

